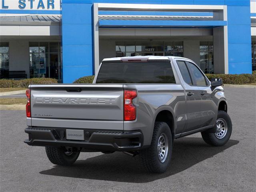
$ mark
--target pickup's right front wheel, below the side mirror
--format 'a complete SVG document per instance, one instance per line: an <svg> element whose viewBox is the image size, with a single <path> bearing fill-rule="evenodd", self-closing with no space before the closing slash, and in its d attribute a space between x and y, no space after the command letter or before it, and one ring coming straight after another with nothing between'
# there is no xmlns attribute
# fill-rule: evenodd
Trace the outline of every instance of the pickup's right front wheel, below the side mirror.
<svg viewBox="0 0 256 192"><path fill-rule="evenodd" d="M225 111L218 111L215 128L215 133L207 131L201 132L203 140L212 146L222 146L226 144L232 133L232 122Z"/></svg>

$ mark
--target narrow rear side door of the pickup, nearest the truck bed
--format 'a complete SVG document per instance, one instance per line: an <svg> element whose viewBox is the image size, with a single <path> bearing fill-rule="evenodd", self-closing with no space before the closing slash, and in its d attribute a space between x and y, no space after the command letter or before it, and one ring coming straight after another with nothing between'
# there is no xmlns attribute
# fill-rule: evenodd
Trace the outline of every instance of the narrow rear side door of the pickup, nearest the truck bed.
<svg viewBox="0 0 256 192"><path fill-rule="evenodd" d="M194 85L191 74L188 70L186 60L176 60L178 68L182 75L182 81L185 89L186 96L186 116L187 125L184 132L189 132L200 128L201 124L201 113L200 113L200 102L201 97L199 94L198 87Z"/></svg>

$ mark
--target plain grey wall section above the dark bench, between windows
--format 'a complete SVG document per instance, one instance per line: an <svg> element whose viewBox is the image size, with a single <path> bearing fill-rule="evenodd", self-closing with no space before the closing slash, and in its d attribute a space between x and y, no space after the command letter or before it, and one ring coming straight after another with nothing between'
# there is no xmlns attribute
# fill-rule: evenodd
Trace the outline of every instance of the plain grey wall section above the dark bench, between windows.
<svg viewBox="0 0 256 192"><path fill-rule="evenodd" d="M9 41L9 70L26 71L29 78L29 44L27 40Z"/></svg>

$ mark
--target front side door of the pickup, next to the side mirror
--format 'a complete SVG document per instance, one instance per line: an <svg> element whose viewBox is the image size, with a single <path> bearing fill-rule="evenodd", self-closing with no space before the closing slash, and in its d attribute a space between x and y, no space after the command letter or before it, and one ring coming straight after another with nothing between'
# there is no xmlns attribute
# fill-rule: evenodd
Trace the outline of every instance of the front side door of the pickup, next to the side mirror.
<svg viewBox="0 0 256 192"><path fill-rule="evenodd" d="M211 100L212 90L210 88L210 83L196 64L192 62L187 62L187 64L192 74L192 78L199 90L199 96L201 98L201 127L214 125L216 118L216 104Z"/></svg>

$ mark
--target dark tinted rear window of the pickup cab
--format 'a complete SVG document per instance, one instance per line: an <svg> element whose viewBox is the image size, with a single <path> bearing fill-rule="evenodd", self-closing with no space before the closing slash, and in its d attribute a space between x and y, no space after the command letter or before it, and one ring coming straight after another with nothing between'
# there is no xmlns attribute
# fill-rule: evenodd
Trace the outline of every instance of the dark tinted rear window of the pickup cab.
<svg viewBox="0 0 256 192"><path fill-rule="evenodd" d="M96 83L175 84L170 62L102 63Z"/></svg>

